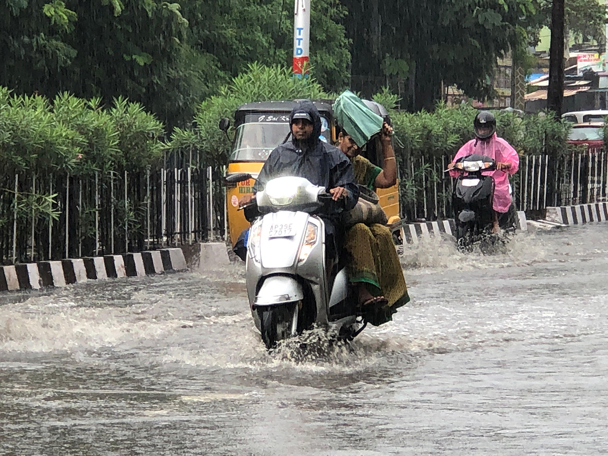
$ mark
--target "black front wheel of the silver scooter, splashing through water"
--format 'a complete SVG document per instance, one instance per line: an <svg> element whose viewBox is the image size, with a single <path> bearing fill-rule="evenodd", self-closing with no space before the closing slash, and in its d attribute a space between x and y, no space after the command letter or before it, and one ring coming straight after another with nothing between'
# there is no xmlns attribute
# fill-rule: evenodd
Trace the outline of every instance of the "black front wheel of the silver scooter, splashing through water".
<svg viewBox="0 0 608 456"><path fill-rule="evenodd" d="M295 336L298 328L299 306L292 302L258 308L260 332L266 348L274 348L279 340Z"/></svg>

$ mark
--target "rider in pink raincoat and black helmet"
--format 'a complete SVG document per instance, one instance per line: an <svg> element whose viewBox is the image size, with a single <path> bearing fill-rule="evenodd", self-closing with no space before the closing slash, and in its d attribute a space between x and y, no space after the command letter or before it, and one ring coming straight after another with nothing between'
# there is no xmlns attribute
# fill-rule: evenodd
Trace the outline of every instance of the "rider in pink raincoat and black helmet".
<svg viewBox="0 0 608 456"><path fill-rule="evenodd" d="M461 157L471 154L488 156L496 160L496 171L483 171L486 176L494 179L494 199L492 209L494 209L493 232L497 232L499 227L499 216L505 215L511 206L511 192L509 185L509 175L516 173L519 168L519 156L511 145L504 139L496 136L496 117L488 111L480 111L474 120L475 139L471 139L463 147L449 165L451 170L454 162ZM450 176L458 176L457 171L450 171Z"/></svg>

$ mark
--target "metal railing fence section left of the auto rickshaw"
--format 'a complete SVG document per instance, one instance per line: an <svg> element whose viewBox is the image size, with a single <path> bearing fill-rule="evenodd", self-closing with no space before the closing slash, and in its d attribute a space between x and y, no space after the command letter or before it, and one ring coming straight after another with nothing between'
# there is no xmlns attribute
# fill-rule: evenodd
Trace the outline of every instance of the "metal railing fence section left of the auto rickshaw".
<svg viewBox="0 0 608 456"><path fill-rule="evenodd" d="M0 264L122 254L221 238L222 170L0 178ZM54 195L51 202L48 197ZM43 206L55 212L49 218Z"/></svg>

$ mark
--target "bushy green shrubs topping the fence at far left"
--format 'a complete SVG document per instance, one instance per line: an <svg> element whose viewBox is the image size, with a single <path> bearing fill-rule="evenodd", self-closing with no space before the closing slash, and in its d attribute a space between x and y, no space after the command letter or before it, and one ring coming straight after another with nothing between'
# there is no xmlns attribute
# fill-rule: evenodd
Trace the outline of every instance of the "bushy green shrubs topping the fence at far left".
<svg viewBox="0 0 608 456"><path fill-rule="evenodd" d="M144 170L159 163L164 133L153 114L125 98L108 110L98 98L63 93L50 103L0 88L0 166L6 174Z"/></svg>

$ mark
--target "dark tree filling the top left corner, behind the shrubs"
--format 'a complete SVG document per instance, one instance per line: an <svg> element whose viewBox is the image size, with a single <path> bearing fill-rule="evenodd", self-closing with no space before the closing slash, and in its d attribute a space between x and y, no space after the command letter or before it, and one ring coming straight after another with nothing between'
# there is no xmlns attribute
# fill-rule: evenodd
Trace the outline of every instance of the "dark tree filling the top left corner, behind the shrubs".
<svg viewBox="0 0 608 456"><path fill-rule="evenodd" d="M184 78L179 4L9 0L0 16L0 83L15 92L69 91L105 103L126 95L173 124L187 117L196 88Z"/></svg>

